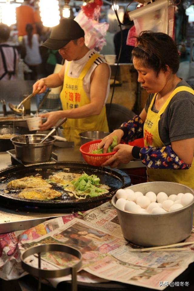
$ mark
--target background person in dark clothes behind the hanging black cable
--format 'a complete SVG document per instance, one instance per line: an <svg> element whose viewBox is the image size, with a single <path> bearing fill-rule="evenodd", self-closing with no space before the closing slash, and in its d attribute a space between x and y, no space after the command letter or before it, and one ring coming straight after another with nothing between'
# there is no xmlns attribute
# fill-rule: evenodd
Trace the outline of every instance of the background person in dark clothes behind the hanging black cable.
<svg viewBox="0 0 194 291"><path fill-rule="evenodd" d="M131 52L133 49L132 45L127 45L127 35L129 29L133 26L133 21L129 20L128 14L125 12L123 16L123 24L125 25L122 29L122 49L119 59L119 63L131 63ZM121 46L121 31L115 33L114 35L114 45L115 45L115 54L116 62L119 58L120 46Z"/></svg>

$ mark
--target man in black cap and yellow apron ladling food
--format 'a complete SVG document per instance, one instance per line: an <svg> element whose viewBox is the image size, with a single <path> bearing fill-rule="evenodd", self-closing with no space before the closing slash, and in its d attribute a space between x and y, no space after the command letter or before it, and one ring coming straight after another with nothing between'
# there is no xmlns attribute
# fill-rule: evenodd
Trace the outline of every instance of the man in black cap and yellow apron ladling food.
<svg viewBox="0 0 194 291"><path fill-rule="evenodd" d="M50 38L43 43L49 49L58 49L65 59L61 71L38 80L33 92L46 87L63 84L60 93L63 110L49 112L41 130L54 126L59 119L67 117L63 134L68 141L79 145L79 132L108 131L105 102L109 94L110 67L93 49L85 45L84 31L71 18L63 18L52 28Z"/></svg>

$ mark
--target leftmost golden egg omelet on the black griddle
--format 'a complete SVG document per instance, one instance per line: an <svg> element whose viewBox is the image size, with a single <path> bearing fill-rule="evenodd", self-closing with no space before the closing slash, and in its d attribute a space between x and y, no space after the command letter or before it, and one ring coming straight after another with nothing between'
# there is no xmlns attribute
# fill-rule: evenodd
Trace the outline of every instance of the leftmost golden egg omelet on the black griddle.
<svg viewBox="0 0 194 291"><path fill-rule="evenodd" d="M15 179L11 182L8 182L7 188L8 189L25 189L25 188L51 188L52 185L47 183L45 180L42 179L41 176L34 177L24 177L21 179Z"/></svg>

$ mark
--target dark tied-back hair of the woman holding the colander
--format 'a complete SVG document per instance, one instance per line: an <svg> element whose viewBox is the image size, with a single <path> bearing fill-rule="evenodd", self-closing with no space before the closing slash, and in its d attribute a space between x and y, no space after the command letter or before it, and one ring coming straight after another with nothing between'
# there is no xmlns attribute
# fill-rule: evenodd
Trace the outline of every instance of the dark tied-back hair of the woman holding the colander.
<svg viewBox="0 0 194 291"><path fill-rule="evenodd" d="M132 50L133 58L141 59L142 65L159 74L167 71L166 65L173 74L179 69L179 53L174 40L162 32L142 31L136 36L138 46Z"/></svg>

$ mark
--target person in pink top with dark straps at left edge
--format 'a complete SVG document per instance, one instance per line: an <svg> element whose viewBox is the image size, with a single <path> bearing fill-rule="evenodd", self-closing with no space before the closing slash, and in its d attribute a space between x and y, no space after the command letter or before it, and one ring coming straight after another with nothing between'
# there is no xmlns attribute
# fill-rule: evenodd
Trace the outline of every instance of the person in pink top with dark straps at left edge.
<svg viewBox="0 0 194 291"><path fill-rule="evenodd" d="M0 81L15 80L18 73L18 51L8 45L10 27L0 24Z"/></svg>

